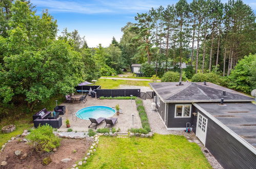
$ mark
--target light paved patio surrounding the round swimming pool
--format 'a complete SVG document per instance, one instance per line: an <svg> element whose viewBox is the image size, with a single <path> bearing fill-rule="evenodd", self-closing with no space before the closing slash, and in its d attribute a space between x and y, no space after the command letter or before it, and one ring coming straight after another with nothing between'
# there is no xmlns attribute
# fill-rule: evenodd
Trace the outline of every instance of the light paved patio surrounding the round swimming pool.
<svg viewBox="0 0 256 169"><path fill-rule="evenodd" d="M127 133L130 128L142 128L141 118L139 112L136 110L135 100L100 100L91 97L87 97L86 103L63 103L61 105L66 105L67 112L65 115L60 115L62 117L62 126L58 131L67 131L66 119L70 120L70 128L73 131L88 131L88 126L91 124L90 120L84 120L73 116L75 112L80 109L93 106L93 105L105 105L108 107L115 107L116 104L120 105L122 113L119 116L114 114L111 117L118 119L118 122L113 126L115 129L121 129L121 133ZM134 114L134 122L132 125L132 114ZM104 128L106 125L103 121L97 126L97 129Z"/></svg>

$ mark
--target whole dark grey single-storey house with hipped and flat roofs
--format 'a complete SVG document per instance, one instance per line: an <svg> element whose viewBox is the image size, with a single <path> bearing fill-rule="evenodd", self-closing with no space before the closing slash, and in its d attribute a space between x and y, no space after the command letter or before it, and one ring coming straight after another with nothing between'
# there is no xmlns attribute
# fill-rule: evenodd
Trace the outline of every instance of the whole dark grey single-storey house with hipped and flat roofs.
<svg viewBox="0 0 256 169"><path fill-rule="evenodd" d="M186 123L224 168L256 168L254 98L210 82L150 83L167 130Z"/></svg>

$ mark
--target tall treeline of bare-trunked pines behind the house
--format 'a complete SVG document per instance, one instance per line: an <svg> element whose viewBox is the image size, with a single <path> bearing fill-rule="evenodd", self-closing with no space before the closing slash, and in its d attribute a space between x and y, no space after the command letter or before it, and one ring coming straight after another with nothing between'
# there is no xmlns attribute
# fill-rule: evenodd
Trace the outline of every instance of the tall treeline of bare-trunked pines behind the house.
<svg viewBox="0 0 256 169"><path fill-rule="evenodd" d="M239 59L256 52L255 14L241 0L180 0L135 20L122 29L125 57L130 64L153 62L156 74L186 62L194 73L229 75Z"/></svg>

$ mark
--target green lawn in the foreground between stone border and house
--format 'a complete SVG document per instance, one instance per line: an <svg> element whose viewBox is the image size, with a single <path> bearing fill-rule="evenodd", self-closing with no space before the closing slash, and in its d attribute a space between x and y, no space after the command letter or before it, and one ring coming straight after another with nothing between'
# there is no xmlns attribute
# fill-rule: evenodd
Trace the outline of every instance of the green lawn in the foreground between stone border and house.
<svg viewBox="0 0 256 169"><path fill-rule="evenodd" d="M95 155L81 168L211 168L199 145L184 136L100 138Z"/></svg>

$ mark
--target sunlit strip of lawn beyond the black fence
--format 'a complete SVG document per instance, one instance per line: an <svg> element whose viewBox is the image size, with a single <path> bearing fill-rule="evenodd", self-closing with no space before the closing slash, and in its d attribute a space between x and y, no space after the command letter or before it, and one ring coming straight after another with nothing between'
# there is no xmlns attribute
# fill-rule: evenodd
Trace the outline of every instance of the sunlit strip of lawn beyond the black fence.
<svg viewBox="0 0 256 169"><path fill-rule="evenodd" d="M135 81L135 80L112 80L112 79L99 79L95 85L100 85L102 89L118 89L119 85L130 86L148 86L150 81Z"/></svg>

